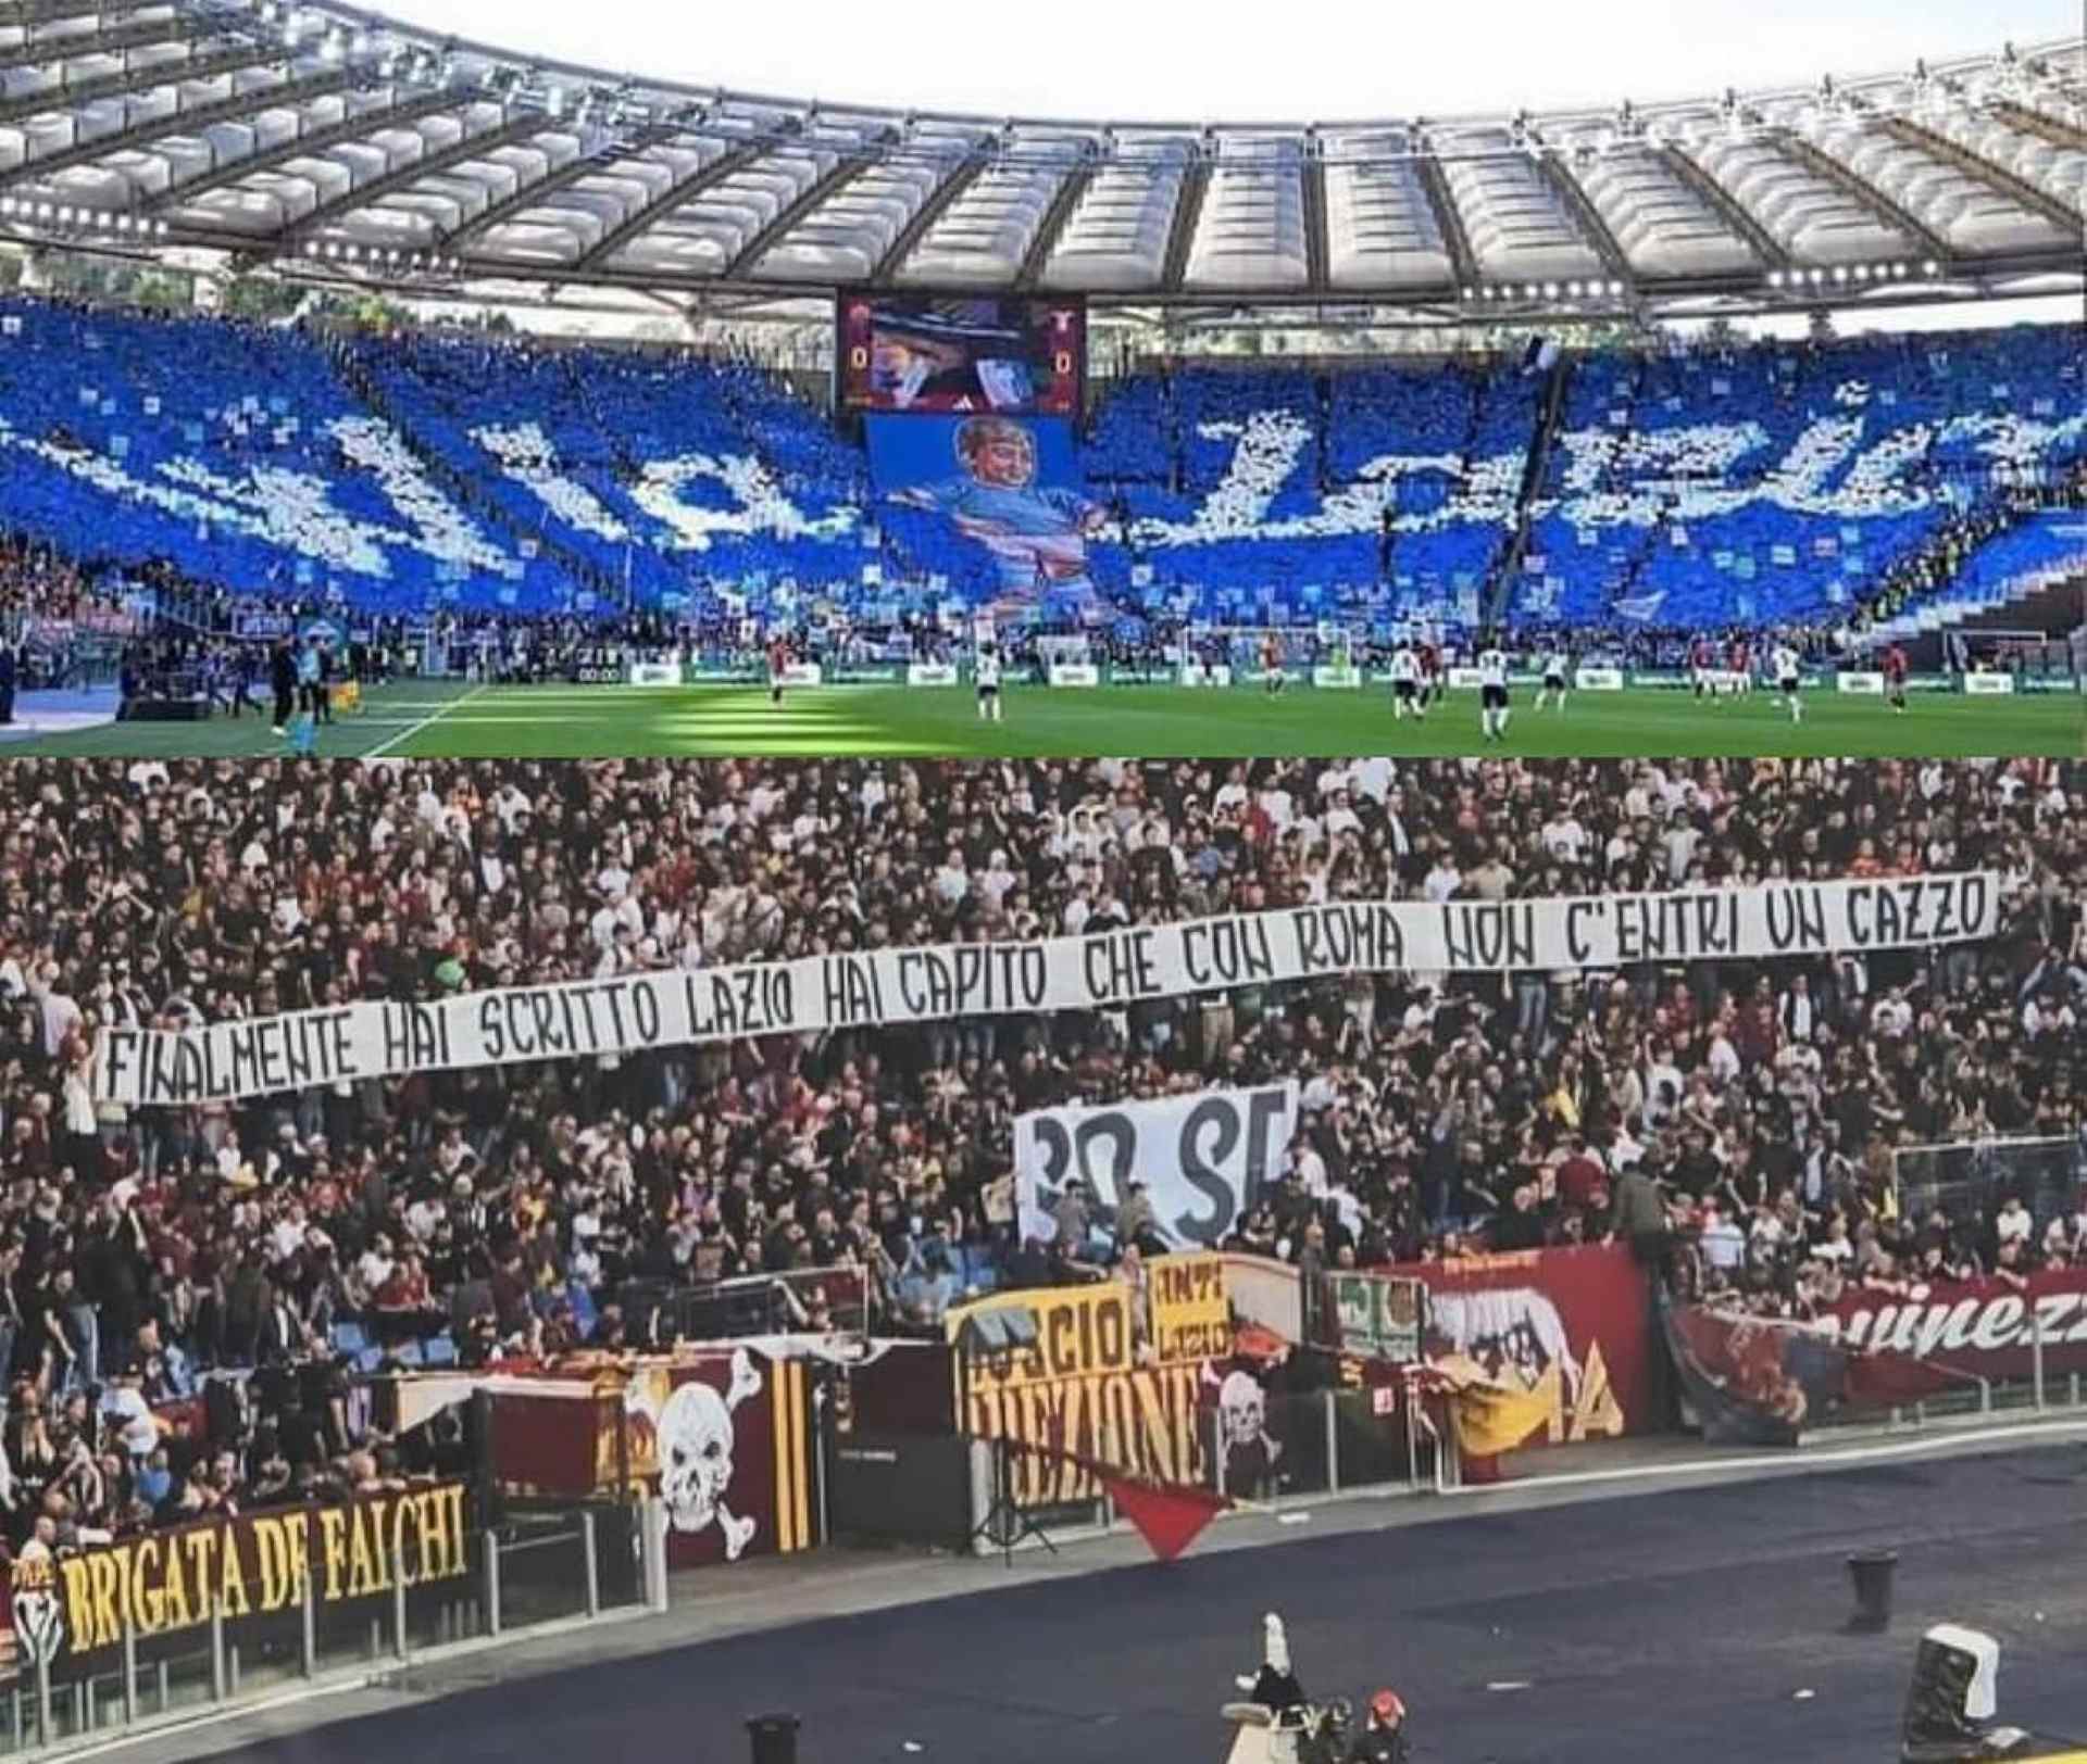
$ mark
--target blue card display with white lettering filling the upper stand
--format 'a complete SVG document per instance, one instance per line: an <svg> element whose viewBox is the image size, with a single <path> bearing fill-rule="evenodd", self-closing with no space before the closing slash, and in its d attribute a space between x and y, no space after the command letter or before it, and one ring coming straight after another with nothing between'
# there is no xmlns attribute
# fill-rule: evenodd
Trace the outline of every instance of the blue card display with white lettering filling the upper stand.
<svg viewBox="0 0 2087 1764"><path fill-rule="evenodd" d="M1951 513L2077 469L2081 359L2079 327L1588 357L1542 448L1546 379L1513 365L1196 369L1100 388L1081 434L987 417L1010 432L973 455L979 419L904 419L925 452L872 475L751 367L15 300L0 525L397 611L1062 592L1110 617L1469 623L1492 596L1582 630L1766 626L1834 617Z"/></svg>

